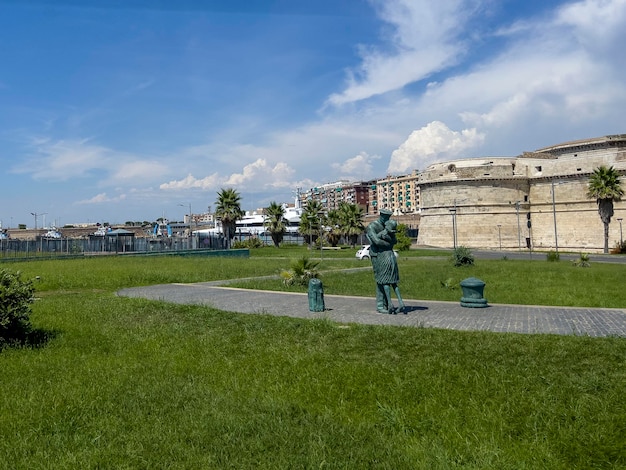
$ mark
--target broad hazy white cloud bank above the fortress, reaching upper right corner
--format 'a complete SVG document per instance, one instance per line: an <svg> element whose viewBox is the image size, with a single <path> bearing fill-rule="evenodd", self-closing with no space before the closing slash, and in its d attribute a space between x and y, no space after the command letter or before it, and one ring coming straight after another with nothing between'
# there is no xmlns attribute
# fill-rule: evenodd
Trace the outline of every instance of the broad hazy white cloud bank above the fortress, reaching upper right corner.
<svg viewBox="0 0 626 470"><path fill-rule="evenodd" d="M523 28L512 27L497 55L409 98L404 118L435 118L452 128L476 129L484 140L469 156L511 155L622 132L617 110L626 105L626 56L617 49L626 43L625 11L623 0L590 0L526 21ZM601 31L588 20L609 16Z"/></svg>

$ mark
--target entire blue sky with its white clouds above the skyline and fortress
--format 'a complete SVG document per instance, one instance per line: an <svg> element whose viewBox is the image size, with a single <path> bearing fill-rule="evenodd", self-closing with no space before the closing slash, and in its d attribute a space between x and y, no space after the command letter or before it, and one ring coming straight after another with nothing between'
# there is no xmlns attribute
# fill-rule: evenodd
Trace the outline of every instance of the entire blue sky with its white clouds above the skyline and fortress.
<svg viewBox="0 0 626 470"><path fill-rule="evenodd" d="M182 220L624 133L624 44L626 0L0 0L0 220Z"/></svg>

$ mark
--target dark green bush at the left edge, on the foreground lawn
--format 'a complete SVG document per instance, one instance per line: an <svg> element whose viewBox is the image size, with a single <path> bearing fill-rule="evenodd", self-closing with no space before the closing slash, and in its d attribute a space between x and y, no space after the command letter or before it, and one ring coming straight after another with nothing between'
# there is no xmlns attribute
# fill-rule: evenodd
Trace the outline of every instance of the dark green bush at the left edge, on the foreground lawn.
<svg viewBox="0 0 626 470"><path fill-rule="evenodd" d="M0 269L0 347L25 338L31 331L30 312L35 288L20 272Z"/></svg>

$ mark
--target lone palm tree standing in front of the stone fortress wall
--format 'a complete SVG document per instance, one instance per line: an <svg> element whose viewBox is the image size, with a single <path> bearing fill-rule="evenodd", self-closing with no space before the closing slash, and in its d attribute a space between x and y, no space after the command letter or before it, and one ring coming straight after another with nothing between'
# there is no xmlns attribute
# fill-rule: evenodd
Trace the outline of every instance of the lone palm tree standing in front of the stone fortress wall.
<svg viewBox="0 0 626 470"><path fill-rule="evenodd" d="M613 217L613 201L619 201L624 195L619 173L612 166L599 166L589 177L587 197L598 203L598 214L604 224L604 253L609 252L609 224Z"/></svg>

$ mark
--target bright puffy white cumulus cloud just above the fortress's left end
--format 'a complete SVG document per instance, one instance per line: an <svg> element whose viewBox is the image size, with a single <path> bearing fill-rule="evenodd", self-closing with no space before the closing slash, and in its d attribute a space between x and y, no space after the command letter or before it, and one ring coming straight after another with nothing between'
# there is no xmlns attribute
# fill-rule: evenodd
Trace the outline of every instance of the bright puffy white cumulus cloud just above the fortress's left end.
<svg viewBox="0 0 626 470"><path fill-rule="evenodd" d="M393 151L389 162L392 174L423 169L428 164L448 158L460 158L462 152L479 145L484 139L476 129L456 132L444 123L433 121L413 131L409 138Z"/></svg>

